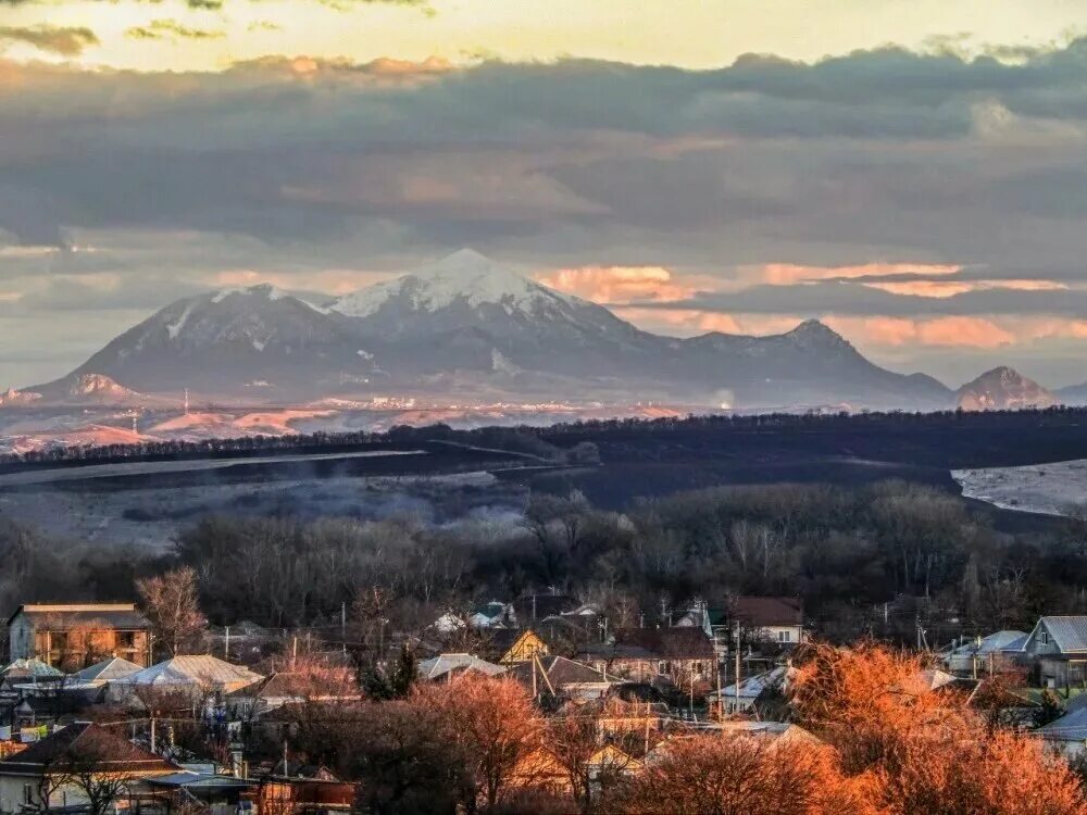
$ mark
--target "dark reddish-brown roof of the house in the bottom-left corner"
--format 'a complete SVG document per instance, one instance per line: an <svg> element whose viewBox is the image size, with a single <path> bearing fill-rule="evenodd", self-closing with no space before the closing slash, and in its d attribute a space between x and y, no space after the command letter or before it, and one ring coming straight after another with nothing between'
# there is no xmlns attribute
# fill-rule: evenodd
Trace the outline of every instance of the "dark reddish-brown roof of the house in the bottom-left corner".
<svg viewBox="0 0 1087 815"><path fill-rule="evenodd" d="M180 769L161 755L90 722L76 722L0 761L2 775L41 775L51 766L93 758L102 773L170 773Z"/></svg>

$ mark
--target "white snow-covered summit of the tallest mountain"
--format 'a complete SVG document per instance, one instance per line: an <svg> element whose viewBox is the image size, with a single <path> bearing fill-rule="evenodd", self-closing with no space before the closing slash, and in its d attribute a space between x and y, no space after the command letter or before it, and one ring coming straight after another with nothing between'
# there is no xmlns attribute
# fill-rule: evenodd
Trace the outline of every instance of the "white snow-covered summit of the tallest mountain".
<svg viewBox="0 0 1087 815"><path fill-rule="evenodd" d="M417 312L437 312L458 302L472 309L501 305L508 313L533 311L539 303L570 303L569 298L512 272L472 249L461 249L416 271L340 298L333 310L367 317L393 299Z"/></svg>

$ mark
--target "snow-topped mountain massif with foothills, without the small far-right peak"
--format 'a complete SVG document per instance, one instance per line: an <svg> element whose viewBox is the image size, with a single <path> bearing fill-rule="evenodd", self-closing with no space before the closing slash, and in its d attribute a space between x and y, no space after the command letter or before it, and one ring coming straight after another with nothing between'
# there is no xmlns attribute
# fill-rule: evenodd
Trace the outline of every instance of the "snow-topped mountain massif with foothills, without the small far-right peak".
<svg viewBox="0 0 1087 815"><path fill-rule="evenodd" d="M962 396L873 364L817 321L767 337L663 337L472 250L336 300L268 285L185 298L67 376L14 393L123 403L186 389L278 403L396 392L909 410Z"/></svg>

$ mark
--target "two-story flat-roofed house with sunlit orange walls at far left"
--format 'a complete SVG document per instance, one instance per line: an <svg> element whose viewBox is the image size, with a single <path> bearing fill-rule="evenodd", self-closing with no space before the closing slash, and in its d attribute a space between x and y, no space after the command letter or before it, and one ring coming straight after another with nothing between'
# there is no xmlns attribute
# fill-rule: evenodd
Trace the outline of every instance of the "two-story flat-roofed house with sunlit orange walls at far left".
<svg viewBox="0 0 1087 815"><path fill-rule="evenodd" d="M151 624L135 603L28 603L8 619L11 660L66 670L120 656L151 664Z"/></svg>

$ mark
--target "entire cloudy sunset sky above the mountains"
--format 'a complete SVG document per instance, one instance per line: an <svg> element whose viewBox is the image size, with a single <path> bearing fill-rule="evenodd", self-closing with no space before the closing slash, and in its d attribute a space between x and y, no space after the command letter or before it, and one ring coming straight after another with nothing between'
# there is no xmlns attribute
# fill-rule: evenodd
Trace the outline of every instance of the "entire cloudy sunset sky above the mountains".
<svg viewBox="0 0 1087 815"><path fill-rule="evenodd" d="M660 333L1087 380L1087 0L0 0L0 386L468 246Z"/></svg>

